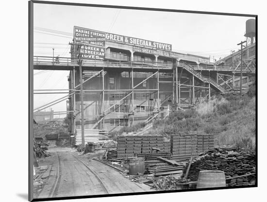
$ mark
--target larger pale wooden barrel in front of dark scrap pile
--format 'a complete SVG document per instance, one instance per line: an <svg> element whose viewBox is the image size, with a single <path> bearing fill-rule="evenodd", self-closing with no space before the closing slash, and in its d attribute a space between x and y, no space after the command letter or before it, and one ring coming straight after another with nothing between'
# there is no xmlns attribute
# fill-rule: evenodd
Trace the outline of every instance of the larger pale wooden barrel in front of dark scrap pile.
<svg viewBox="0 0 267 202"><path fill-rule="evenodd" d="M226 186L224 171L201 170L197 188L223 187Z"/></svg>

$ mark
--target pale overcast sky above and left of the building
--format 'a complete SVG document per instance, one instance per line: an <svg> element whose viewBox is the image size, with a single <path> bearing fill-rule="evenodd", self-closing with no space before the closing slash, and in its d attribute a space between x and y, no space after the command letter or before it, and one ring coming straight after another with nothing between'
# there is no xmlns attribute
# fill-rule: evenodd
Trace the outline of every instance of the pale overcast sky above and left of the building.
<svg viewBox="0 0 267 202"><path fill-rule="evenodd" d="M251 18L37 3L33 14L34 55L52 56L54 48L55 55L69 57L73 27L80 26L172 44L173 51L211 57L212 62L238 50L236 44L245 39L246 20ZM68 71L34 74L34 89L68 88ZM35 94L34 108L64 95ZM66 111L66 101L52 109Z"/></svg>

